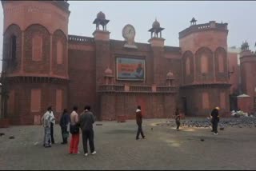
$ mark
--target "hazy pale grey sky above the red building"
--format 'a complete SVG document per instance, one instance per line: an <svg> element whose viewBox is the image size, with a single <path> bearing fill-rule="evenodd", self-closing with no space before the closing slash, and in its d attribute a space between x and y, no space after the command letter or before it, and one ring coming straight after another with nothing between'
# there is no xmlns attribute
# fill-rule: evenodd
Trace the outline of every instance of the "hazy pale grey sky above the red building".
<svg viewBox="0 0 256 171"><path fill-rule="evenodd" d="M256 42L256 2L253 1L69 1L69 34L89 36L95 30L92 23L99 11L106 14L110 22L107 30L111 39L123 40L122 28L131 24L136 30L135 42L150 39L152 23L155 18L165 28L162 37L166 46L178 46L178 32L190 26L191 18L198 24L209 21L228 23L228 46L241 46L247 41L251 50ZM0 58L2 59L3 12L0 8ZM0 63L2 70L2 62Z"/></svg>

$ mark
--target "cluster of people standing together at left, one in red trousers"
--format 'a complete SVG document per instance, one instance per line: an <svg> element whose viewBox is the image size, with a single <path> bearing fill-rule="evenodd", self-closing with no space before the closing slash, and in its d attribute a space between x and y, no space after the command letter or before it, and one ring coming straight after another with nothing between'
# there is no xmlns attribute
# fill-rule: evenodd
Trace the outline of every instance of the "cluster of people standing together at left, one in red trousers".
<svg viewBox="0 0 256 171"><path fill-rule="evenodd" d="M59 121L59 125L62 129L62 144L67 144L67 138L71 133L70 140L70 154L77 154L79 137L82 133L82 145L84 149L84 155L88 156L87 143L89 141L90 153L94 155L96 153L94 149L94 114L90 111L90 105L86 105L84 111L78 115L78 107L74 106L72 113L68 113L67 109L64 109L62 117ZM54 124L55 117L50 106L46 113L42 116L42 125L44 127L44 147L51 147L54 144ZM70 132L68 131L68 125L70 125ZM80 130L81 129L81 130Z"/></svg>

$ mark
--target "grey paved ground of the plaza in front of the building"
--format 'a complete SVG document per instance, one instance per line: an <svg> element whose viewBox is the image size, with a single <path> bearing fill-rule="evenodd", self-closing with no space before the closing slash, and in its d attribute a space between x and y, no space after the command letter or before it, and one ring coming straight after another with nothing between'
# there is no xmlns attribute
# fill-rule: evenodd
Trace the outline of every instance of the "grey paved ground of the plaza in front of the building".
<svg viewBox="0 0 256 171"><path fill-rule="evenodd" d="M145 120L146 139L138 141L134 121L97 122L102 124L94 125L97 154L88 157L68 154L59 125L58 143L48 149L42 147L42 126L0 129L6 133L0 137L0 169L256 169L256 128L225 128L214 136L210 128L178 132L166 121Z"/></svg>

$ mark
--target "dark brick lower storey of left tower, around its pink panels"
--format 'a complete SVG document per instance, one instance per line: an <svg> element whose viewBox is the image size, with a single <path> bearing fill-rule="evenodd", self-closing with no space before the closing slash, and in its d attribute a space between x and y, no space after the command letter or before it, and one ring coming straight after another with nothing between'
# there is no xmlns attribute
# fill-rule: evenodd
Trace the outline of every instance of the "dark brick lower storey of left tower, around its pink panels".
<svg viewBox="0 0 256 171"><path fill-rule="evenodd" d="M14 113L8 113L10 123L13 125L32 125L34 116L42 116L47 107L52 105L57 121L62 112L56 112L56 89L67 92L67 85L54 83L18 83L10 84L14 89ZM31 89L41 90L41 108L38 112L31 112ZM62 106L68 108L66 93L62 95Z"/></svg>

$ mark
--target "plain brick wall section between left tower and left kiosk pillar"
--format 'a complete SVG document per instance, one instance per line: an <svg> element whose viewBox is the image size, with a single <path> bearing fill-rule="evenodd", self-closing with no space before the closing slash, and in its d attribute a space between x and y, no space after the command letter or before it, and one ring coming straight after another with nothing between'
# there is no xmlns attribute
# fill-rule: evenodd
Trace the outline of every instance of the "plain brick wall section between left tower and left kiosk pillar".
<svg viewBox="0 0 256 171"><path fill-rule="evenodd" d="M86 104L96 109L95 52L69 50L69 106L78 105L82 112ZM99 102L98 102L99 103ZM98 113L95 113L98 115Z"/></svg>

